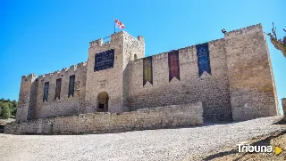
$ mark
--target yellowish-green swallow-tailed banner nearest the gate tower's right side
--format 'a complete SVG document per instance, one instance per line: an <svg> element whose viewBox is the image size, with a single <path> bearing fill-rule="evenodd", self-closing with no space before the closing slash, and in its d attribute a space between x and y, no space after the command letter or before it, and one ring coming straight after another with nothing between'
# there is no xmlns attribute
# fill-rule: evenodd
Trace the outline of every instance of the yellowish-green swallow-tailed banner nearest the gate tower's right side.
<svg viewBox="0 0 286 161"><path fill-rule="evenodd" d="M143 86L147 82L153 85L152 56L143 59Z"/></svg>

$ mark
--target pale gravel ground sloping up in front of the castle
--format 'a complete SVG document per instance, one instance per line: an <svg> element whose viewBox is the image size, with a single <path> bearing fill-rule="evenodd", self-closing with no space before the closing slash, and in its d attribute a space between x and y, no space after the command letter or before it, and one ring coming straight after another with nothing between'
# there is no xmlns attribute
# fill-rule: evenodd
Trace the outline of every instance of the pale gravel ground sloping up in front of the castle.
<svg viewBox="0 0 286 161"><path fill-rule="evenodd" d="M0 133L0 160L189 160L286 129L282 117L198 127L88 135Z"/></svg>

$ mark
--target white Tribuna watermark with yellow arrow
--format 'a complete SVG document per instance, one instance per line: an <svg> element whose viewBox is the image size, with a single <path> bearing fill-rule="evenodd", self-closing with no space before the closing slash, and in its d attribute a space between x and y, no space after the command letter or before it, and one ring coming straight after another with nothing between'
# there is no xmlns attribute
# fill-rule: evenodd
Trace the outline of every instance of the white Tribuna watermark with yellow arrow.
<svg viewBox="0 0 286 161"><path fill-rule="evenodd" d="M274 147L274 153L279 155L283 150L280 147ZM259 145L249 145L249 144L239 144L239 152L250 152L250 153L272 153L273 147L269 146L259 146Z"/></svg>

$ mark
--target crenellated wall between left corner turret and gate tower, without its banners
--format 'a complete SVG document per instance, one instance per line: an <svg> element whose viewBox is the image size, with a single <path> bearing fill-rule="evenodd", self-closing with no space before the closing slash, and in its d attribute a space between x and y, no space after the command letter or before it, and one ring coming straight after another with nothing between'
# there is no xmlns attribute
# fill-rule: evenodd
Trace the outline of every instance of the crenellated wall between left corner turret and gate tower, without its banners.
<svg viewBox="0 0 286 161"><path fill-rule="evenodd" d="M71 68L63 68L61 71L38 76L37 79L37 99L34 108L34 117L55 117L71 116L85 113L85 94L86 94L86 73L87 63L82 62L73 65ZM69 94L70 76L75 75L74 94ZM62 78L60 99L55 99L56 79ZM43 101L45 83L49 82L47 101Z"/></svg>

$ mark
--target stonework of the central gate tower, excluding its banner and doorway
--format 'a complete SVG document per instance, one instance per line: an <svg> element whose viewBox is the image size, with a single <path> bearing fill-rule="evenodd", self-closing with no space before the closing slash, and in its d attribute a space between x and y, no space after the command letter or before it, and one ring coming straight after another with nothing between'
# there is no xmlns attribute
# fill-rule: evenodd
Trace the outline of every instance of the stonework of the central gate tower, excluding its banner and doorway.
<svg viewBox="0 0 286 161"><path fill-rule="evenodd" d="M98 52L114 49L114 68L94 71L95 56ZM142 58L145 52L144 39L135 38L126 32L119 32L110 37L109 42L102 39L90 43L88 50L86 109L88 112L97 111L97 97L99 93L108 93L108 111L129 111L124 107L124 68L134 55ZM126 90L125 90L126 91Z"/></svg>

